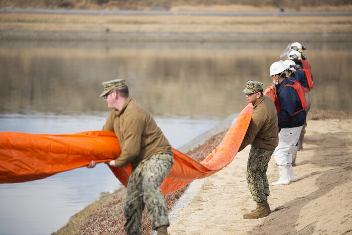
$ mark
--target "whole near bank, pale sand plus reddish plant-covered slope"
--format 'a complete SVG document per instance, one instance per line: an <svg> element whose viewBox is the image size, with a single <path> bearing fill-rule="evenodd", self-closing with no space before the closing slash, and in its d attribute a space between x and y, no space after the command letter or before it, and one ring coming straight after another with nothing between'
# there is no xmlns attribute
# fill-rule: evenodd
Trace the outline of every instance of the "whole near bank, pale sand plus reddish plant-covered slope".
<svg viewBox="0 0 352 235"><path fill-rule="evenodd" d="M339 119L334 119L337 117ZM351 117L350 112L310 111L304 149L298 152L294 168L296 181L285 186L270 186L268 201L273 213L268 217L242 218L243 213L255 207L246 182L247 147L220 172L195 180L187 190L166 196L170 235L351 234ZM222 123L229 125L230 122ZM218 125L216 128L226 127ZM189 152L198 161L216 147L225 133L212 131L208 132L208 137L213 137ZM204 137L195 139L185 150L194 148L197 142L203 143ZM269 182L278 177L273 158L267 175ZM55 234L125 234L122 215L125 196L125 189L104 196L74 215ZM151 233L144 215L143 234Z"/></svg>

